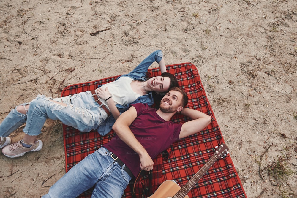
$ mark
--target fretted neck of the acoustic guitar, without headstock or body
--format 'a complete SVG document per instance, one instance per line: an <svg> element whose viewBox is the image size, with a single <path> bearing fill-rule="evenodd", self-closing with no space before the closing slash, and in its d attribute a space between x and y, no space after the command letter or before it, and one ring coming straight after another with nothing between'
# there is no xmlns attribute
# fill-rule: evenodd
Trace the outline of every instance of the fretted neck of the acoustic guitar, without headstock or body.
<svg viewBox="0 0 297 198"><path fill-rule="evenodd" d="M204 164L204 166L172 198L185 197L217 160L218 158L215 155L212 156L211 159L209 159L206 164Z"/></svg>

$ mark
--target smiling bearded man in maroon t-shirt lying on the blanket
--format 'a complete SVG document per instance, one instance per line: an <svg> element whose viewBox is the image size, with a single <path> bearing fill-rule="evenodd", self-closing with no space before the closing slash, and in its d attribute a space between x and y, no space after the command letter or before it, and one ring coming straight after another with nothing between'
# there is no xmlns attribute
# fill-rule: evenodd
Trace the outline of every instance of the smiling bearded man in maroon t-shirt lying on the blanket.
<svg viewBox="0 0 297 198"><path fill-rule="evenodd" d="M117 136L72 167L44 197L77 197L92 186L92 197L121 197L133 175L141 169L152 170L158 153L211 122L210 116L184 108L187 100L183 90L173 87L158 110L146 104L131 105L113 125ZM174 124L169 120L175 113L192 120Z"/></svg>

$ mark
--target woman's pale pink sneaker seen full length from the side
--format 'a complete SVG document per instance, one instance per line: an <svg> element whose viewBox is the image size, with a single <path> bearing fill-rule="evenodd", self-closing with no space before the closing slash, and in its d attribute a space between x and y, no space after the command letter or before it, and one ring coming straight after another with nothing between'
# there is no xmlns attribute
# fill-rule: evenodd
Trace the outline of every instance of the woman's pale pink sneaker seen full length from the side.
<svg viewBox="0 0 297 198"><path fill-rule="evenodd" d="M33 151L39 151L42 149L43 143L41 140L35 140L35 142L32 144L30 148L23 147L22 140L7 145L2 149L2 153L7 157L20 157L24 155L26 152L33 152Z"/></svg>

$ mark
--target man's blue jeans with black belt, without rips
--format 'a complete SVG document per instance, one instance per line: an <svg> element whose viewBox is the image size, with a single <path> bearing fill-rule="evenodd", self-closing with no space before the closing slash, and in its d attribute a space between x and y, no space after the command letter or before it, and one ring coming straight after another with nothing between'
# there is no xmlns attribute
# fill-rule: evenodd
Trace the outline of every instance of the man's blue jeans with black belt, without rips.
<svg viewBox="0 0 297 198"><path fill-rule="evenodd" d="M77 197L95 186L92 197L121 197L131 176L111 157L104 147L99 148L72 167L42 198Z"/></svg>

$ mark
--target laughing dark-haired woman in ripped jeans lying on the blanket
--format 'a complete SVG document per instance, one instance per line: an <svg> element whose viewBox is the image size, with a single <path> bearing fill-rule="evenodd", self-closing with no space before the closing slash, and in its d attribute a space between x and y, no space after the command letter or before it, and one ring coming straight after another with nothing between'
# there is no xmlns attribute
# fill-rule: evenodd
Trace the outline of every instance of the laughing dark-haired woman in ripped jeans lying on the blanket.
<svg viewBox="0 0 297 198"><path fill-rule="evenodd" d="M154 61L159 64L162 75L146 80L146 72ZM43 143L36 137L47 118L60 120L81 132L97 129L99 134L105 135L130 104L152 105L153 92L164 93L173 86L178 86L177 80L166 72L162 51L157 50L129 74L99 85L96 90L56 99L37 96L30 103L15 107L0 124L0 148L5 156L12 158L41 150ZM23 123L26 123L23 140L9 145L11 140L7 136Z"/></svg>

